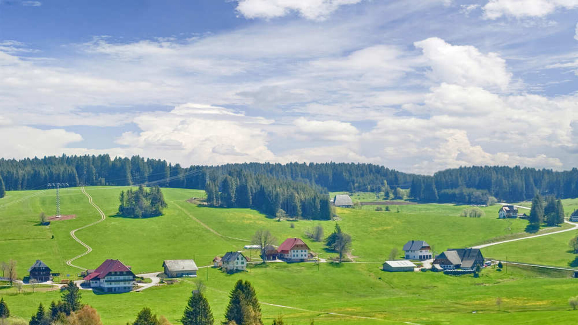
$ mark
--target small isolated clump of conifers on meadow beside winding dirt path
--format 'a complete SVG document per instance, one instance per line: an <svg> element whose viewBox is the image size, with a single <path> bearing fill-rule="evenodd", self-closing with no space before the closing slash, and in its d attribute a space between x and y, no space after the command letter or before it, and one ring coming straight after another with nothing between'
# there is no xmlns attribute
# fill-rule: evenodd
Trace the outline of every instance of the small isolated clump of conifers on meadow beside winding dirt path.
<svg viewBox="0 0 578 325"><path fill-rule="evenodd" d="M121 191L118 214L127 217L156 217L162 215L166 208L165 198L160 187L153 186L149 190L140 185L138 190Z"/></svg>

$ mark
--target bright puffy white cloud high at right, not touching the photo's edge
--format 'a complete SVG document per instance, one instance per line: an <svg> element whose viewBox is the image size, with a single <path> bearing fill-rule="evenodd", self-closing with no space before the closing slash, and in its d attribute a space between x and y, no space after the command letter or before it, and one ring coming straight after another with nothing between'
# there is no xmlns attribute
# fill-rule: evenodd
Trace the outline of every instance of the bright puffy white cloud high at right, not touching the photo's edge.
<svg viewBox="0 0 578 325"><path fill-rule="evenodd" d="M424 39L414 46L423 50L425 63L431 67L429 76L434 80L505 90L512 78L506 61L497 53L484 54L476 47L451 45L440 38Z"/></svg>

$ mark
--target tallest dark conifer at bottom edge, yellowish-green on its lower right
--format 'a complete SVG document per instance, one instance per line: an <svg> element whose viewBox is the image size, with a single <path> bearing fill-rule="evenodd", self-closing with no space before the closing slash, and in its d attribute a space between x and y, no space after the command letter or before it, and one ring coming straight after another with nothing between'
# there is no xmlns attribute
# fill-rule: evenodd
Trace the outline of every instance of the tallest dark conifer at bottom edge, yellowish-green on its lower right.
<svg viewBox="0 0 578 325"><path fill-rule="evenodd" d="M229 305L225 311L225 322L235 324L263 324L261 306L255 289L249 281L238 280L229 295Z"/></svg>

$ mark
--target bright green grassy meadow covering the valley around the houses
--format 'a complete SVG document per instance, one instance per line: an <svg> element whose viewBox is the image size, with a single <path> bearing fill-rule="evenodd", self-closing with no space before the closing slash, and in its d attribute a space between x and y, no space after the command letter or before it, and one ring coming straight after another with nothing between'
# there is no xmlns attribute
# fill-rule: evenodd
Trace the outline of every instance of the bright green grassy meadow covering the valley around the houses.
<svg viewBox="0 0 578 325"><path fill-rule="evenodd" d="M277 221L250 209L198 206L186 200L203 197L205 193L183 189L163 189L169 204L165 215L127 219L116 216L122 189L86 188L107 218L76 232L81 241L92 247L92 252L74 264L95 268L106 258L118 258L132 265L135 273L161 271L162 260L172 258L194 258L199 266L209 265L216 255L242 249L259 228L271 230L280 243L287 237L305 239L304 232L317 224L328 235L335 225L335 221ZM369 194L375 199L375 194ZM20 278L27 275L29 265L37 258L61 272L60 278L66 275L75 278L80 271L66 265L66 260L84 252L69 232L99 220L98 212L79 188L64 189L62 213L74 214L76 218L38 226L41 211L53 214L54 195L53 190L16 191L0 199L0 261L17 260ZM26 197L27 200L18 201ZM578 200L564 201L567 210L577 203ZM400 212L395 211L397 207ZM253 283L261 302L297 308L263 304L265 323L271 323L281 313L291 324L309 324L310 320L316 324L480 324L498 322L506 313L510 322L516 323L564 323L575 319L578 314L569 310L568 298L576 296L578 282L570 278L570 272L510 266L507 273L490 268L480 278L473 278L433 272L391 274L379 270L390 250L401 251L409 239L425 239L439 253L446 248L527 235L524 234L527 221L498 220L497 206L483 208L486 216L480 218L460 217L464 208L467 206L419 204L395 206L391 212L375 211L375 206L337 209L340 226L353 237L352 257L358 263L270 263L268 268L255 267L235 275L203 268L199 269L199 279L206 281L206 294L216 320L223 319L228 291L239 278ZM575 235L576 231L570 231L505 243L483 249L483 253L497 258L508 254L510 260L528 263L568 266L575 258L566 252L568 241ZM335 256L325 252L322 243L305 241L321 257ZM247 255L254 257L255 252ZM125 324L143 306L176 323L193 287L192 281L187 280L140 293L96 295L83 291L83 302L97 308L105 324ZM8 302L13 315L22 319L29 319L38 302L49 304L60 297L57 291L40 290L33 294L29 287L24 288L24 293L2 288L0 297ZM501 310L496 305L498 297L502 298Z"/></svg>

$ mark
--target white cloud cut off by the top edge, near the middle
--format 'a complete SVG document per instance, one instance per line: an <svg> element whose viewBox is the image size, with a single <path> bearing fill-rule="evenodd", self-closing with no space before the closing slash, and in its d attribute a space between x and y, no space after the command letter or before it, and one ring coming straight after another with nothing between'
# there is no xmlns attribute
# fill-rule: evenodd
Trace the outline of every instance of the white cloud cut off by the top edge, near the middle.
<svg viewBox="0 0 578 325"><path fill-rule="evenodd" d="M340 6L362 0L237 0L237 11L248 19L271 19L297 12L306 19L324 20Z"/></svg>

